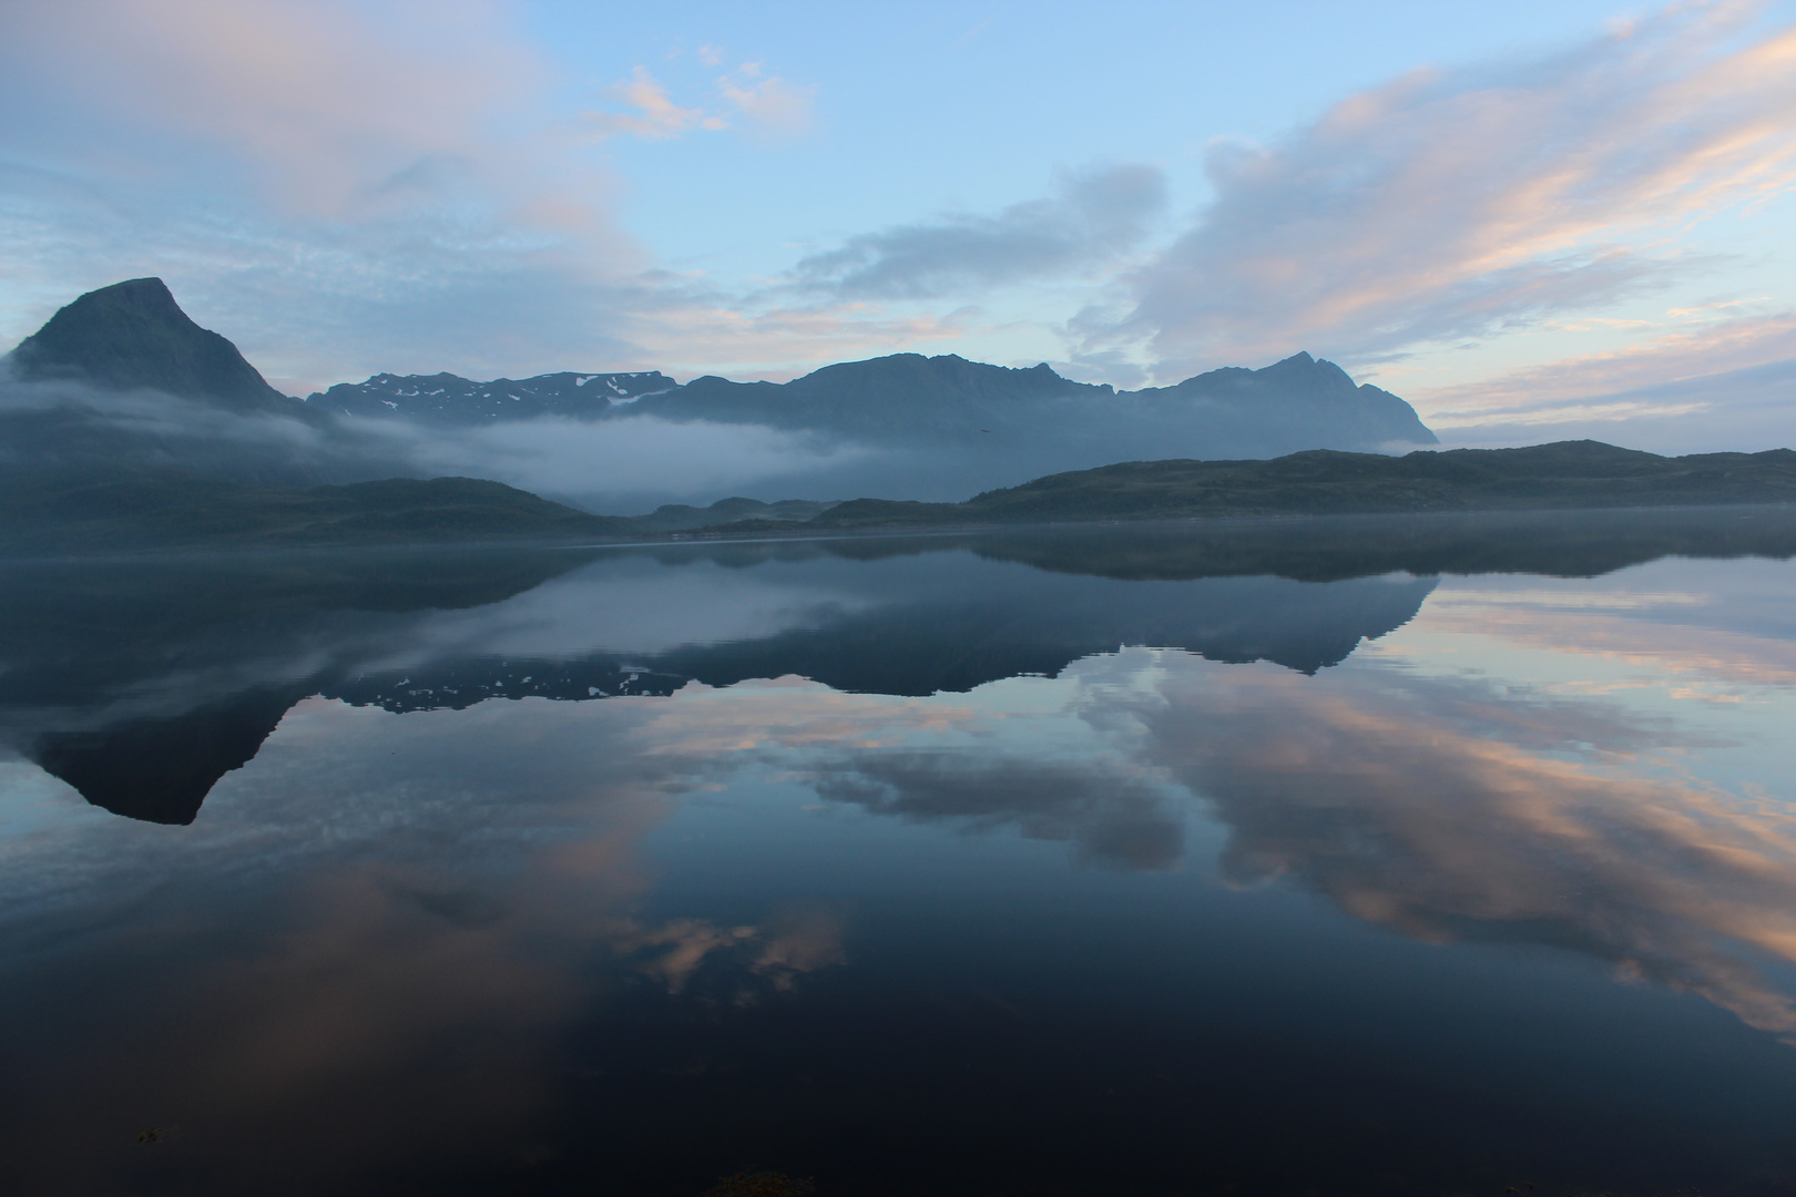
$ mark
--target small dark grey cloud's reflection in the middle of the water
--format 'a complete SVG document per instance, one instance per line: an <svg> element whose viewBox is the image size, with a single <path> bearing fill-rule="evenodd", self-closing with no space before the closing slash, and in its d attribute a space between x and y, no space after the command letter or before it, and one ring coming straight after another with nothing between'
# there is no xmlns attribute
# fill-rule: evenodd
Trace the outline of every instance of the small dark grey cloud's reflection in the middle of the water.
<svg viewBox="0 0 1796 1197"><path fill-rule="evenodd" d="M875 815L1072 840L1083 858L1124 869L1167 869L1184 852L1160 786L1115 759L867 750L817 768L812 784Z"/></svg>

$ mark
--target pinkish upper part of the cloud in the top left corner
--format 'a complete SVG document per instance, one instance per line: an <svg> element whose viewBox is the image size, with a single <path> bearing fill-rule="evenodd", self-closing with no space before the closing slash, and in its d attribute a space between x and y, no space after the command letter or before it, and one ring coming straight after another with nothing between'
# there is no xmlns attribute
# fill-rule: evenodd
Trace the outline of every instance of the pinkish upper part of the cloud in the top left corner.
<svg viewBox="0 0 1796 1197"><path fill-rule="evenodd" d="M501 165L483 124L537 99L544 63L478 0L365 5L128 0L7 5L11 100L70 165L119 154L144 183L228 154L286 212L347 217L422 181L417 167ZM172 154L171 154L172 151ZM208 163L210 165L210 163Z"/></svg>

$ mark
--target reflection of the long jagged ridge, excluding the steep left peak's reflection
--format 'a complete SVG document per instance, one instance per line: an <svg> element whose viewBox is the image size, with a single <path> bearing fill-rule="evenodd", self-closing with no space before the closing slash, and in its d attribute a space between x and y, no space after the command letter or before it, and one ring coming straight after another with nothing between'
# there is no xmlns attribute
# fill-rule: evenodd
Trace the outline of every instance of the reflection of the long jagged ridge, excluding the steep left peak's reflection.
<svg viewBox="0 0 1796 1197"><path fill-rule="evenodd" d="M363 675L325 687L325 695L426 711L487 698L668 695L688 680L735 686L796 673L839 691L927 696L1008 677L1052 677L1122 644L1315 673L1345 660L1361 639L1412 619L1431 589L1426 578L1315 587L1282 578L1130 585L1015 574L986 578L964 594L824 612L806 626L765 637L569 660L442 660Z"/></svg>

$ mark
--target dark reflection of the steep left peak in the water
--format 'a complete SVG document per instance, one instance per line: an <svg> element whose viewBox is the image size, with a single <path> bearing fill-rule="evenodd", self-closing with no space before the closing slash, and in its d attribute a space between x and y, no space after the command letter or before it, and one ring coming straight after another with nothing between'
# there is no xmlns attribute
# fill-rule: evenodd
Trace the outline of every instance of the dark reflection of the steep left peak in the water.
<svg viewBox="0 0 1796 1197"><path fill-rule="evenodd" d="M0 738L95 806L187 824L320 677L424 612L483 607L578 553L332 553L13 564Z"/></svg>

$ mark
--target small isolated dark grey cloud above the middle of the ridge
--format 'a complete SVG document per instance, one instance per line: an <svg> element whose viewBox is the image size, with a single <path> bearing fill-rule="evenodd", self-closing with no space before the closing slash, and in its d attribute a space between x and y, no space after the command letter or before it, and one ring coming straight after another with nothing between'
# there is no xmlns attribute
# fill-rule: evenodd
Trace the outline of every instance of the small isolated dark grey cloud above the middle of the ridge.
<svg viewBox="0 0 1796 1197"><path fill-rule="evenodd" d="M803 258L792 278L801 291L918 300L1088 273L1115 264L1164 206L1158 169L1096 167L1061 174L1052 196L995 215L952 214L850 237Z"/></svg>

